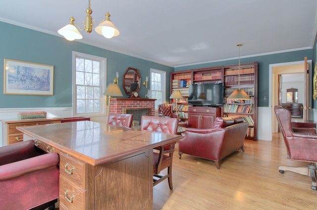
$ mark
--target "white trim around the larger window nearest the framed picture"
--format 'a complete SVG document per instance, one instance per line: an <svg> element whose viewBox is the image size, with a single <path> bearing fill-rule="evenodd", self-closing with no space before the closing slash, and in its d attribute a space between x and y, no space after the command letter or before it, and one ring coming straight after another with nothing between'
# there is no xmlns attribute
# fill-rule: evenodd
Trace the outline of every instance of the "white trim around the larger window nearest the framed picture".
<svg viewBox="0 0 317 210"><path fill-rule="evenodd" d="M98 113L79 113L77 114L77 106L76 106L76 57L83 57L87 59L98 60L101 62L101 89L102 89L102 98L101 98L101 112ZM104 57L99 57L95 55L85 54L81 52L72 52L72 109L73 109L73 117L85 116L85 117L98 117L98 116L105 116L106 115L106 100L105 96L103 95L103 91L106 89L106 62L107 59Z"/></svg>

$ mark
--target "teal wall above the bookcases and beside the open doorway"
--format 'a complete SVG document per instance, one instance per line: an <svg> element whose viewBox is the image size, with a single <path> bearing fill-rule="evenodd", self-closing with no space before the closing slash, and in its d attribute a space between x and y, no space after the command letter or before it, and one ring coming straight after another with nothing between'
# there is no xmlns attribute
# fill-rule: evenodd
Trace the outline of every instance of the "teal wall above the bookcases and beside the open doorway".
<svg viewBox="0 0 317 210"><path fill-rule="evenodd" d="M249 63L249 62L255 62L255 61L258 62L258 106L259 107L268 107L268 100L264 100L264 96L266 97L266 99L268 99L269 65L275 64L275 63L303 61L305 56L307 56L308 60L313 60L313 63L315 63L317 58L314 55L313 51L316 52L316 44L314 49L297 50L297 51L291 51L291 52L276 53L276 54L262 55L262 56L255 56L255 57L240 59L241 63ZM205 67L212 67L212 66L230 65L230 64L237 64L237 63L239 63L239 60L234 59L234 60L227 60L227 61L219 61L219 62L212 62L212 63L205 63L205 64L176 67L175 71L205 68Z"/></svg>

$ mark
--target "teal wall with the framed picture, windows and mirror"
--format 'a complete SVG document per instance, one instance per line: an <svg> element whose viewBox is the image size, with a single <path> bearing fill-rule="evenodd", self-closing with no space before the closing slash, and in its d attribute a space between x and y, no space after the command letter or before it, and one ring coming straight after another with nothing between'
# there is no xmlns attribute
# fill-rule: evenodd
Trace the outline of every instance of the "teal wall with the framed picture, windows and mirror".
<svg viewBox="0 0 317 210"><path fill-rule="evenodd" d="M0 108L36 108L36 107L71 107L72 106L72 51L87 53L107 59L106 84L112 83L115 72L120 76L128 67L139 70L141 79L150 76L150 69L158 69L169 73L174 68L120 54L81 42L68 42L65 39L50 34L34 31L16 25L0 22L0 66L3 67L3 59L21 60L27 62L48 64L54 66L54 95L4 95L0 94ZM115 39L115 38L114 38ZM3 93L3 73L0 74L0 92ZM119 86L124 97L122 79ZM169 92L169 85L167 85ZM141 85L139 94L141 97L147 93L147 89Z"/></svg>

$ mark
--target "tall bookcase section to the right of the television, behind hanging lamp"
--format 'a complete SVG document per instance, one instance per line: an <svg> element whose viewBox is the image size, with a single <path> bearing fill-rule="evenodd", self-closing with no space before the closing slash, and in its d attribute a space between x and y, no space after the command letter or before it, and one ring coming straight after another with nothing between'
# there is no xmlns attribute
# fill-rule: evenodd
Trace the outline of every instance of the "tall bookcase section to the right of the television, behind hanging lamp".
<svg viewBox="0 0 317 210"><path fill-rule="evenodd" d="M236 89L243 89L251 100L229 100ZM224 66L224 116L243 116L249 123L246 138L257 140L258 63Z"/></svg>

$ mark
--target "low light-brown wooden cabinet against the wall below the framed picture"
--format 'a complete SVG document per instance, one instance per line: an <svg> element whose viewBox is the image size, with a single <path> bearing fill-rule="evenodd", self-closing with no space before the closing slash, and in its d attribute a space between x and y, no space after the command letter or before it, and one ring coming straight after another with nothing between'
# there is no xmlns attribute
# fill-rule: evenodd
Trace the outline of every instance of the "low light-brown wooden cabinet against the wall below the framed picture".
<svg viewBox="0 0 317 210"><path fill-rule="evenodd" d="M61 119L28 119L28 120L2 120L2 145L14 144L23 141L23 133L16 129L19 126L38 126L60 123Z"/></svg>

